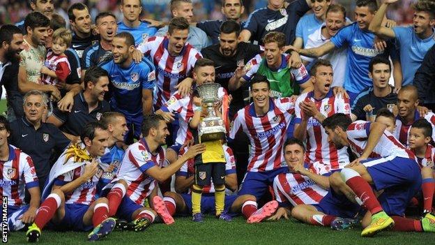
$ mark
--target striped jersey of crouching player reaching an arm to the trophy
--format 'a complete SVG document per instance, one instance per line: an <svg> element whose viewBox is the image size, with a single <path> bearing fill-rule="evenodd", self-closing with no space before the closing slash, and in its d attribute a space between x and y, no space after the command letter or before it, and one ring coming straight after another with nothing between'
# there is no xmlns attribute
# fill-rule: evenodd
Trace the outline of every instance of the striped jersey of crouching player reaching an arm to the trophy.
<svg viewBox="0 0 435 245"><path fill-rule="evenodd" d="M131 144L125 151L117 176L128 184L125 195L138 205L142 205L144 199L155 188L156 181L153 177L146 175L146 170L158 166L160 163L164 164L164 160L161 158L165 157L165 153L161 151L165 150L160 147L159 154L153 156L144 138Z"/></svg>

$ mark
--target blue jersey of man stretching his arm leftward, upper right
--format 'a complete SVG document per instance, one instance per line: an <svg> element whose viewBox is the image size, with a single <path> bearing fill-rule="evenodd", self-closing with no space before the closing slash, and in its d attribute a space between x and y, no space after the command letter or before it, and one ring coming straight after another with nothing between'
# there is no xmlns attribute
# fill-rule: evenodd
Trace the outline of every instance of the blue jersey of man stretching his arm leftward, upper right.
<svg viewBox="0 0 435 245"><path fill-rule="evenodd" d="M330 38L337 48L348 46L344 89L352 93L359 93L373 86L369 78L369 62L376 55L383 53L374 48L374 37L371 32L360 29L358 23L353 23L343 27Z"/></svg>

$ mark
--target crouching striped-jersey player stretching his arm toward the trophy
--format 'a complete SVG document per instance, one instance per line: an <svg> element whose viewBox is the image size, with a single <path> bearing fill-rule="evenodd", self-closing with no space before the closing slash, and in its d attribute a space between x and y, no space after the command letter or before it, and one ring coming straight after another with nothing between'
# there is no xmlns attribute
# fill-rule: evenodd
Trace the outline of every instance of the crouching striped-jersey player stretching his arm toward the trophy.
<svg viewBox="0 0 435 245"><path fill-rule="evenodd" d="M155 195L157 190L155 181L162 182L169 179L185 161L205 151L203 144L196 144L174 163L160 168L155 162L158 159L153 161L153 156L160 156L159 152L164 151L162 146L166 144L166 138L169 136L165 119L158 114L144 117L142 135L143 138L139 142L131 144L125 151L118 176L113 181L123 179L127 182L127 190L122 190L121 186L115 185L107 195L110 209L117 210L116 216L119 218L132 221L131 227L135 231L144 230L155 219L156 211L143 205L145 198L153 198ZM113 195L115 192L119 195ZM155 209L160 210L158 207ZM162 214L161 218L167 224L174 223L171 216Z"/></svg>

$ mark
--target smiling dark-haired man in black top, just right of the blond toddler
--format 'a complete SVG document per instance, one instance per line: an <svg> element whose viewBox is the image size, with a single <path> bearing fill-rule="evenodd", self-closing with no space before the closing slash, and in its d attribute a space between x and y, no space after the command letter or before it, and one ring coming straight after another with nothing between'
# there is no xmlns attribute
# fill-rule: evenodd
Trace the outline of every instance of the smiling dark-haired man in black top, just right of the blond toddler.
<svg viewBox="0 0 435 245"><path fill-rule="evenodd" d="M74 31L71 48L82 59L84 50L98 40L98 36L92 34L89 9L83 3L74 3L68 8L68 18Z"/></svg>

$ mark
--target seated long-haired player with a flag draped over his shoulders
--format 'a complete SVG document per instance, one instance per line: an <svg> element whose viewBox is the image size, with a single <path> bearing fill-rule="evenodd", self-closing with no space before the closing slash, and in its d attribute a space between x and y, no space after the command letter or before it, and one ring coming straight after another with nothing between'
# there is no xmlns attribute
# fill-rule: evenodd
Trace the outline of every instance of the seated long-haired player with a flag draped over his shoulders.
<svg viewBox="0 0 435 245"><path fill-rule="evenodd" d="M71 144L50 171L45 200L26 233L29 242L38 241L49 221L62 230L93 228L88 235L91 241L105 237L116 225L114 218L107 216L107 198L96 199L95 195L103 172L99 158L107 147L107 128L98 122L86 124L80 138L82 142Z"/></svg>

